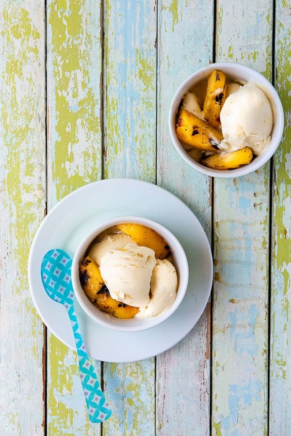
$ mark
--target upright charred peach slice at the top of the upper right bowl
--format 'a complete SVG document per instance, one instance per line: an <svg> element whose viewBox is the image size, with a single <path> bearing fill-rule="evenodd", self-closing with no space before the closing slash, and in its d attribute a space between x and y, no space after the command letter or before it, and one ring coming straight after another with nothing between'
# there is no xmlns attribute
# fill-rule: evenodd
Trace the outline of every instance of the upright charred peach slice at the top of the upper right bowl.
<svg viewBox="0 0 291 436"><path fill-rule="evenodd" d="M207 81L203 105L204 118L210 126L220 127L220 111L226 100L226 76L222 71L213 70Z"/></svg>

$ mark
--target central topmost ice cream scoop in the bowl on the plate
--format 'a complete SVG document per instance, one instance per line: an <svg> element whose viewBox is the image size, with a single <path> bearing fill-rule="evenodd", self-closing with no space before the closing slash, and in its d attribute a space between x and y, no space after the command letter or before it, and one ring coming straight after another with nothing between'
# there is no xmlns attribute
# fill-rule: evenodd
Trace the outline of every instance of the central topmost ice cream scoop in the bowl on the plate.
<svg viewBox="0 0 291 436"><path fill-rule="evenodd" d="M155 265L154 250L129 243L109 249L101 257L99 270L114 300L144 308L150 301L150 280Z"/></svg>

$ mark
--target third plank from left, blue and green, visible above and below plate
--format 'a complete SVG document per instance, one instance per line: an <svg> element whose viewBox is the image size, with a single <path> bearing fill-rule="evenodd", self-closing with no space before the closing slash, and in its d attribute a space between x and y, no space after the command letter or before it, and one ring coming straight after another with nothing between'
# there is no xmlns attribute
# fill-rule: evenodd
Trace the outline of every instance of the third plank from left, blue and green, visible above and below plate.
<svg viewBox="0 0 291 436"><path fill-rule="evenodd" d="M104 2L104 177L155 182L155 1ZM155 359L104 363L104 435L154 435Z"/></svg>

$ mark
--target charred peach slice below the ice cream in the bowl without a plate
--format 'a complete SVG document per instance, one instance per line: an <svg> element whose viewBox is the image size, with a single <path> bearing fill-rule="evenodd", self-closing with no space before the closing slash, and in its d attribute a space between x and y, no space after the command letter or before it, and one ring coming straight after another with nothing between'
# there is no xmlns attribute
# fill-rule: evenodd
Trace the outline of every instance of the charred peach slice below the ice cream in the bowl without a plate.
<svg viewBox="0 0 291 436"><path fill-rule="evenodd" d="M212 154L203 159L201 163L209 168L217 170L230 170L247 165L252 161L252 159L252 150L249 147L243 147L236 151L224 151L221 154Z"/></svg>

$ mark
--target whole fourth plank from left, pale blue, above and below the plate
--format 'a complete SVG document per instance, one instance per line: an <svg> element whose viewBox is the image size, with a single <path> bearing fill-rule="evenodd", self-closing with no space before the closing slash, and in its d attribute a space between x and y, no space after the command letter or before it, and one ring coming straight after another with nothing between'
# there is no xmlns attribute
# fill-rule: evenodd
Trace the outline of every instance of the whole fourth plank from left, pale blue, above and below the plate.
<svg viewBox="0 0 291 436"><path fill-rule="evenodd" d="M179 157L168 113L180 82L212 60L212 41L212 1L159 1L157 182L194 211L209 240L211 181ZM209 434L210 306L183 341L157 357L156 371L157 435Z"/></svg>

